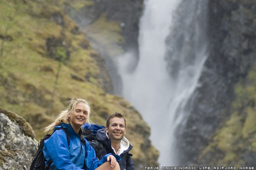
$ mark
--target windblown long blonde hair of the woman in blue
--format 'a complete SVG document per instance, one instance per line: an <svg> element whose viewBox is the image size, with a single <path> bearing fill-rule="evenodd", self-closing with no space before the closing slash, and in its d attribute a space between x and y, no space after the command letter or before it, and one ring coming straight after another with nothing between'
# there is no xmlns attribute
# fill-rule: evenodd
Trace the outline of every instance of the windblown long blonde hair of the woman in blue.
<svg viewBox="0 0 256 170"><path fill-rule="evenodd" d="M75 112L76 105L79 103L84 104L84 107L88 111L86 123L91 123L91 121L90 121L90 113L91 112L90 112L90 103L89 102L87 102L86 100L81 99L81 98L72 98L68 103L69 103L69 105L68 105L67 109L60 112L60 114L55 119L55 121L52 124L50 124L49 126L44 128L45 132L48 132L54 126L59 126L61 123L70 123L70 119L68 118L68 115Z"/></svg>

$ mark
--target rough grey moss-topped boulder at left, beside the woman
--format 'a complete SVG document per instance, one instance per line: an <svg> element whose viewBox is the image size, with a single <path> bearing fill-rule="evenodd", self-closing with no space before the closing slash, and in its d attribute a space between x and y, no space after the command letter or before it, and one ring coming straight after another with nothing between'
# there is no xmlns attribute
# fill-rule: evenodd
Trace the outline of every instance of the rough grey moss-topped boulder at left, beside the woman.
<svg viewBox="0 0 256 170"><path fill-rule="evenodd" d="M34 137L23 118L0 109L0 170L28 170L38 146Z"/></svg>

